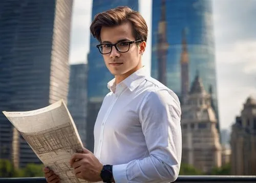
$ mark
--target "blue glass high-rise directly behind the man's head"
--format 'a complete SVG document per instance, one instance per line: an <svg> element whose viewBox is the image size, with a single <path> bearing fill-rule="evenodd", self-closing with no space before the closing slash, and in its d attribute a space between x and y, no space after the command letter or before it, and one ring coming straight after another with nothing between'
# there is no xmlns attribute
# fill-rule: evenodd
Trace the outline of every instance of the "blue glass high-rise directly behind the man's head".
<svg viewBox="0 0 256 183"><path fill-rule="evenodd" d="M92 20L97 13L117 6L128 6L138 11L138 0L94 0ZM91 36L90 53L88 54L88 119L87 119L87 143L86 147L93 151L93 129L103 98L110 92L107 83L114 78L105 66L102 55L96 48L98 40Z"/></svg>

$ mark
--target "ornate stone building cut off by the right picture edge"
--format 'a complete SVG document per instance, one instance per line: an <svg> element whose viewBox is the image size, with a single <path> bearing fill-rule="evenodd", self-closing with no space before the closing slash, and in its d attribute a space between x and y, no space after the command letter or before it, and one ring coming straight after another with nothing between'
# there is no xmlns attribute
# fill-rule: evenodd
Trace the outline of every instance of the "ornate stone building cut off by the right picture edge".
<svg viewBox="0 0 256 183"><path fill-rule="evenodd" d="M231 132L231 174L256 174L256 100L248 97Z"/></svg>

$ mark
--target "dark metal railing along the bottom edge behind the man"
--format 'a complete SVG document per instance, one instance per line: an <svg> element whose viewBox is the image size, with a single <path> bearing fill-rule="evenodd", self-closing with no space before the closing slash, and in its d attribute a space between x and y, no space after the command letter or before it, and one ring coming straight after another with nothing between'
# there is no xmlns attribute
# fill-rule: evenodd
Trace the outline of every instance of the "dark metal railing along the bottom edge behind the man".
<svg viewBox="0 0 256 183"><path fill-rule="evenodd" d="M0 178L0 183L46 183L44 177L27 177L27 178ZM189 175L181 175L177 178L175 182L207 182L207 183L246 183L246 182L256 182L256 176L226 176L226 175L199 175L199 176L189 176Z"/></svg>

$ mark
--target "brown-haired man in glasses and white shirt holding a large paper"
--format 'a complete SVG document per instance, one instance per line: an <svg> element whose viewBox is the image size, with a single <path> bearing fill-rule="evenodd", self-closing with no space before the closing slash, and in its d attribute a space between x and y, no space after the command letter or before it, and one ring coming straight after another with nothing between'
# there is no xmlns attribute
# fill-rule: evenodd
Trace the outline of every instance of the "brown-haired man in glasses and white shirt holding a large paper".
<svg viewBox="0 0 256 183"><path fill-rule="evenodd" d="M71 158L75 175L93 182L175 181L182 148L180 102L145 74L145 20L128 7L117 7L96 15L90 29L115 78L95 123L94 154L84 148ZM49 171L47 181L58 182Z"/></svg>

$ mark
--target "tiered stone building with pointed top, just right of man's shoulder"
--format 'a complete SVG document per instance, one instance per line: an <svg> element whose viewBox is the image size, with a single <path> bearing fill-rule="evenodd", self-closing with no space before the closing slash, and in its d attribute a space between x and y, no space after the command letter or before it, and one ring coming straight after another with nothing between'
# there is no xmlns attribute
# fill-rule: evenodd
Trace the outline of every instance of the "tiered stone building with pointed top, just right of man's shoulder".
<svg viewBox="0 0 256 183"><path fill-rule="evenodd" d="M221 166L222 148L217 119L211 107L211 95L206 92L197 74L189 95L182 105L182 162L210 172Z"/></svg>

